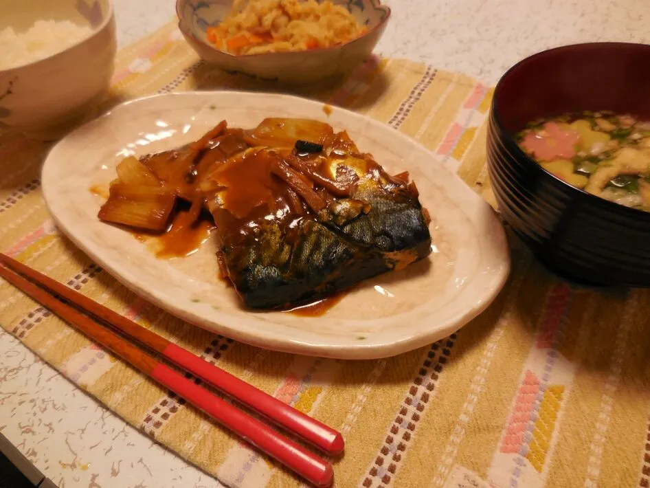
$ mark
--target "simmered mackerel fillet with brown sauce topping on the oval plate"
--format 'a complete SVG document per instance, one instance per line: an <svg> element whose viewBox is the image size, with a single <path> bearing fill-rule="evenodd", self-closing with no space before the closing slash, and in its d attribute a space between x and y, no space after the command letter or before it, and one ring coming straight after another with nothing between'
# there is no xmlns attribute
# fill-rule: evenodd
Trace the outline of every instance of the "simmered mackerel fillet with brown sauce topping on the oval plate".
<svg viewBox="0 0 650 488"><path fill-rule="evenodd" d="M252 131L222 122L139 162L197 217L210 211L221 274L253 309L320 300L431 252L429 215L407 173L389 175L322 122L266 119Z"/></svg>

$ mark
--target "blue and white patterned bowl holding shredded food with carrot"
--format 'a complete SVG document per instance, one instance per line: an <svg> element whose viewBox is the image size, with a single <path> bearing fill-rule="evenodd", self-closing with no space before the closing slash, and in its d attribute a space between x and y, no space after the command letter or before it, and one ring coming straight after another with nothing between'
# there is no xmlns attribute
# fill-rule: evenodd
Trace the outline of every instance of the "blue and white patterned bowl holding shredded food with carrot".
<svg viewBox="0 0 650 488"><path fill-rule="evenodd" d="M335 78L351 71L372 54L390 17L390 8L379 0L333 0L343 5L368 32L343 45L300 52L234 55L219 51L205 30L229 14L233 0L177 0L179 29L206 63L226 71L256 76L284 84L305 84Z"/></svg>

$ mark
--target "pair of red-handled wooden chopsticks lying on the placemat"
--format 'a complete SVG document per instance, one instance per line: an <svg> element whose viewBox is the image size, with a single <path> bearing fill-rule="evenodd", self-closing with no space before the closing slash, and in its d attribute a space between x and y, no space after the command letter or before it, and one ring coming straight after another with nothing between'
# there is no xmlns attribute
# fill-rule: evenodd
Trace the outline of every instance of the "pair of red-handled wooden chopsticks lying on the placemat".
<svg viewBox="0 0 650 488"><path fill-rule="evenodd" d="M191 379L159 362L113 329L218 388L326 454L335 456L343 452L344 441L339 432L5 254L0 253L0 263L2 278L134 368L203 410L225 428L317 487L328 487L333 483L333 467L323 458L194 384Z"/></svg>

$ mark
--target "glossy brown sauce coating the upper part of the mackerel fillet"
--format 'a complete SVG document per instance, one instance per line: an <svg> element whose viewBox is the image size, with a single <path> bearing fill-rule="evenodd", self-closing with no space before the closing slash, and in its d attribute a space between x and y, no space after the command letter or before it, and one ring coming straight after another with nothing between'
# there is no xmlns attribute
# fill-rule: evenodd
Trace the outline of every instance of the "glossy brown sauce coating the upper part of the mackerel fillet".
<svg viewBox="0 0 650 488"><path fill-rule="evenodd" d="M346 133L338 134L331 144L341 155L357 151ZM201 189L209 201L218 201L210 210L223 241L237 243L269 221L280 221L284 228L295 218L320 211L335 197L350 197L359 179L355 171L379 180L381 166L372 159L356 153L339 157L339 153L329 160L324 153L302 154L292 146L249 148L210 168L201 178Z"/></svg>

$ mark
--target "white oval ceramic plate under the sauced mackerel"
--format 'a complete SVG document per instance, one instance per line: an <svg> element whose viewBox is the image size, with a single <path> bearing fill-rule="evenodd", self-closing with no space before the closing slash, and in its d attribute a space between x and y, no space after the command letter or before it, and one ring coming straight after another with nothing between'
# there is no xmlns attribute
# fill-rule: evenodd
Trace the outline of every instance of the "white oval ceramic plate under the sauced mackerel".
<svg viewBox="0 0 650 488"><path fill-rule="evenodd" d="M256 126L266 117L323 120L345 129L393 174L408 170L432 215L429 258L366 280L320 317L243 309L216 278L214 245L161 260L150 246L97 219L115 165L196 140L220 120ZM70 133L47 156L49 210L69 239L126 287L197 326L262 348L340 359L374 359L446 337L483 311L510 269L506 236L492 208L410 137L357 113L293 96L188 92L127 102Z"/></svg>

